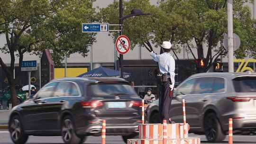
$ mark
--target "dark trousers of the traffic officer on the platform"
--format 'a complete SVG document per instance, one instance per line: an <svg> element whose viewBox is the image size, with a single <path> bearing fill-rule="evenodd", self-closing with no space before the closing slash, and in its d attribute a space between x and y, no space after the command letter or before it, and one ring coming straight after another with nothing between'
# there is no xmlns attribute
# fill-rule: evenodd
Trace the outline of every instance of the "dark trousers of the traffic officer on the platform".
<svg viewBox="0 0 256 144"><path fill-rule="evenodd" d="M171 102L173 99L173 95L170 95L170 87L169 87L170 81L163 82L162 85L162 94L159 97L159 112L160 112L160 120L163 122L163 120L167 120L167 123L169 123L170 117L170 108L171 108Z"/></svg>

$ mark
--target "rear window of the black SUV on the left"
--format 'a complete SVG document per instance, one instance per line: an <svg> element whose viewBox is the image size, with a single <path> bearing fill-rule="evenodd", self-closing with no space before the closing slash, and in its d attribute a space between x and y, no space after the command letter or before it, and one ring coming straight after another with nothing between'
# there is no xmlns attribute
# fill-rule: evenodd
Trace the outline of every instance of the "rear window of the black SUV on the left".
<svg viewBox="0 0 256 144"><path fill-rule="evenodd" d="M93 95L137 95L135 90L127 84L95 84L89 86Z"/></svg>

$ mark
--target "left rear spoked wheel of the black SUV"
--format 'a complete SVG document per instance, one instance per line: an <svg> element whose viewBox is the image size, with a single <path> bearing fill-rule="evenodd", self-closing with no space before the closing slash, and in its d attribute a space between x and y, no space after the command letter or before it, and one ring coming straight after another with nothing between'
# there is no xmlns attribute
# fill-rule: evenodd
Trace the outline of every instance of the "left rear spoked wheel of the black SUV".
<svg viewBox="0 0 256 144"><path fill-rule="evenodd" d="M78 137L75 134L75 127L73 124L72 117L64 117L61 124L62 139L65 144L82 144L83 138Z"/></svg>

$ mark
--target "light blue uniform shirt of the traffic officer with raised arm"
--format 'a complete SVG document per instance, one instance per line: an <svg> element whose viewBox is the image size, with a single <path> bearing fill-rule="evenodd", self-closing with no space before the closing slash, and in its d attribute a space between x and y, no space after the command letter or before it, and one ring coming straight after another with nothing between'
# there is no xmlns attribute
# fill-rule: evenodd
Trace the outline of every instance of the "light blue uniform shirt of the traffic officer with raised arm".
<svg viewBox="0 0 256 144"><path fill-rule="evenodd" d="M170 73L171 81L175 82L175 60L173 56L170 53L163 53L157 55L153 51L150 53L150 55L153 57L155 62L158 62L160 72L162 74Z"/></svg>

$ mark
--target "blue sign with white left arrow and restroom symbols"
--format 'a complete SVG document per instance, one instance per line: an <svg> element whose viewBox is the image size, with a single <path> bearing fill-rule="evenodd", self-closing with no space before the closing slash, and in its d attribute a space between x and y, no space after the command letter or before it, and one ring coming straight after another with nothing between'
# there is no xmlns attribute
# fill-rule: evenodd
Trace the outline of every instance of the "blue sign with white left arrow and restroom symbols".
<svg viewBox="0 0 256 144"><path fill-rule="evenodd" d="M83 23L83 33L97 33L97 32L108 32L109 24L97 24L97 23Z"/></svg>

